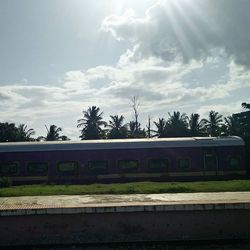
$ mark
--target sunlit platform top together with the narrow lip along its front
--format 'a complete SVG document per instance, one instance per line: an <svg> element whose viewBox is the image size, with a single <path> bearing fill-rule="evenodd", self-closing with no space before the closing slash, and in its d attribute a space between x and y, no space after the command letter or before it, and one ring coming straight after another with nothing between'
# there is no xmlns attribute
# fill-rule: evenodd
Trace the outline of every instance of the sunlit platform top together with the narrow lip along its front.
<svg viewBox="0 0 250 250"><path fill-rule="evenodd" d="M235 207L250 209L250 192L0 197L0 216L57 211L98 213L111 210L211 210ZM104 211L102 208L107 209Z"/></svg>

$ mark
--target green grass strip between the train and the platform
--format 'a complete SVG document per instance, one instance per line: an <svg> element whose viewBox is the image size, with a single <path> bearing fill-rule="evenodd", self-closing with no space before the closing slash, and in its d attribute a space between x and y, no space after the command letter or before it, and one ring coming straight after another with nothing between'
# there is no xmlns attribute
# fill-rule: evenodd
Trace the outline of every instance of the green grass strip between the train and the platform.
<svg viewBox="0 0 250 250"><path fill-rule="evenodd" d="M250 191L250 180L133 182L91 185L24 185L0 188L0 197L34 195L148 194Z"/></svg>

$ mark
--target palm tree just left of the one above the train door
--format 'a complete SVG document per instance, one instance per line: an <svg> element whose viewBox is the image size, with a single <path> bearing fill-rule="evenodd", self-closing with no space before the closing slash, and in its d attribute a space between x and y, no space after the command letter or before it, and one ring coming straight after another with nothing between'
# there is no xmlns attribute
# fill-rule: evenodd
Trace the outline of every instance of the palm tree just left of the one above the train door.
<svg viewBox="0 0 250 250"><path fill-rule="evenodd" d="M204 119L200 120L199 114L192 113L188 118L188 127L190 136L203 136L205 135L205 122Z"/></svg>

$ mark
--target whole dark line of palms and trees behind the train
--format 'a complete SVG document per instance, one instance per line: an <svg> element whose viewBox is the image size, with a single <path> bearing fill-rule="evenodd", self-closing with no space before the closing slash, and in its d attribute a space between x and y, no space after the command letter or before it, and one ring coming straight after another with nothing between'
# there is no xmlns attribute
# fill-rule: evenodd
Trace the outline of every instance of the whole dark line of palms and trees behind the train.
<svg viewBox="0 0 250 250"><path fill-rule="evenodd" d="M241 113L223 117L211 110L207 118L197 113L187 116L175 111L168 113L167 118L152 121L148 117L147 125L142 128L139 122L138 100L132 99L133 119L125 123L123 115L111 115L108 122L103 120L103 112L99 107L92 106L83 111L83 116L77 121L81 140L93 139L126 139L126 138L168 138L189 136L250 136L250 104L242 103L246 110ZM155 129L152 129L152 126ZM70 140L62 135L62 128L56 125L45 126L45 136L34 137L35 130L25 124L16 126L14 123L0 123L0 142L22 141L65 141Z"/></svg>

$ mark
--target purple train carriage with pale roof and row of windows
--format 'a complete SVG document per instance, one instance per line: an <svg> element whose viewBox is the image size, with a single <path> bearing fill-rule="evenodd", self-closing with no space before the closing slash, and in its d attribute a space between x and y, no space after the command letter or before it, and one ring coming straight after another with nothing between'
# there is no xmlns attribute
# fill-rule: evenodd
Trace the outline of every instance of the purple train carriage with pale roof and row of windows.
<svg viewBox="0 0 250 250"><path fill-rule="evenodd" d="M237 136L0 143L13 184L194 181L246 177Z"/></svg>

